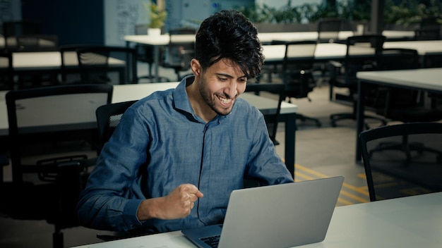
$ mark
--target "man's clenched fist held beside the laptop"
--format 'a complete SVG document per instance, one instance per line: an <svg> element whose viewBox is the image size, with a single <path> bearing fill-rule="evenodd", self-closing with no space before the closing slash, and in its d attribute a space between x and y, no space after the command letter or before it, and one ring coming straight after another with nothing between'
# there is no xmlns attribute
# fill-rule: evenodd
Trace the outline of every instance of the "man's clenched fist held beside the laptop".
<svg viewBox="0 0 442 248"><path fill-rule="evenodd" d="M144 200L138 207L138 220L185 218L191 213L196 200L201 197L203 193L195 185L179 185L165 197Z"/></svg>

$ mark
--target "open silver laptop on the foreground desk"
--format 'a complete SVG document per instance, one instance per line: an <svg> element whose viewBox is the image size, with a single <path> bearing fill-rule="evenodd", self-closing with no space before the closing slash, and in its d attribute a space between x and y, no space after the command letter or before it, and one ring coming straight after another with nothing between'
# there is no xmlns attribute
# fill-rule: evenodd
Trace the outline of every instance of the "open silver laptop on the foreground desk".
<svg viewBox="0 0 442 248"><path fill-rule="evenodd" d="M343 181L338 176L234 190L222 225L181 232L201 248L282 248L321 242Z"/></svg>

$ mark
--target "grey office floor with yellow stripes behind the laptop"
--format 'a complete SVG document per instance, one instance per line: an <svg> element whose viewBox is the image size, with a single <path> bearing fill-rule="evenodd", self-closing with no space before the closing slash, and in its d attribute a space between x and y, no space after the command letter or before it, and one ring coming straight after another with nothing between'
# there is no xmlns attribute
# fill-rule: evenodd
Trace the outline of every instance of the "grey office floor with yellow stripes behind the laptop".
<svg viewBox="0 0 442 248"><path fill-rule="evenodd" d="M170 73L170 70L161 73ZM164 74L162 74L164 75ZM296 137L296 180L310 180L333 175L344 175L338 206L368 202L368 192L364 178L364 168L354 163L356 142L354 121L345 120L338 127L331 128L330 113L351 111L350 106L328 101L328 86L321 85L311 94L311 101L294 100L299 112L320 118L322 127L313 123L299 123ZM376 125L376 124L374 124ZM278 127L277 152L284 155L284 127ZM10 168L4 168L5 180L11 180ZM32 207L32 202L29 203ZM0 215L0 247L52 247L53 225L45 221L17 221ZM100 242L95 235L97 230L71 228L64 230L65 247Z"/></svg>

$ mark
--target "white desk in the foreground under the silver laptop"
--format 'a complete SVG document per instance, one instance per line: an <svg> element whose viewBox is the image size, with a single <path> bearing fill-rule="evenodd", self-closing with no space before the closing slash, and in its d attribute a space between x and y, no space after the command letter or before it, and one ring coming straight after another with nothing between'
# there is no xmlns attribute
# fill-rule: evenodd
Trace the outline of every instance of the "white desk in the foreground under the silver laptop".
<svg viewBox="0 0 442 248"><path fill-rule="evenodd" d="M442 192L339 206L335 208L325 240L300 247L441 247L441 209ZM78 248L86 247L195 246L181 232L176 231L88 244Z"/></svg>

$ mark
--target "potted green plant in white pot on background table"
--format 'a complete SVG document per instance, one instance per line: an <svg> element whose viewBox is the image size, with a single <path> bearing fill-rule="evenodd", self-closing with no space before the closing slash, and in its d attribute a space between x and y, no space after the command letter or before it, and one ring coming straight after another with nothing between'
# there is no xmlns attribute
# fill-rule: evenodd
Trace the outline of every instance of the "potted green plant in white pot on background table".
<svg viewBox="0 0 442 248"><path fill-rule="evenodd" d="M165 25L167 12L165 11L165 0L157 0L157 4L153 1L143 2L143 6L148 11L150 23L148 24L148 35L160 35L161 27Z"/></svg>

